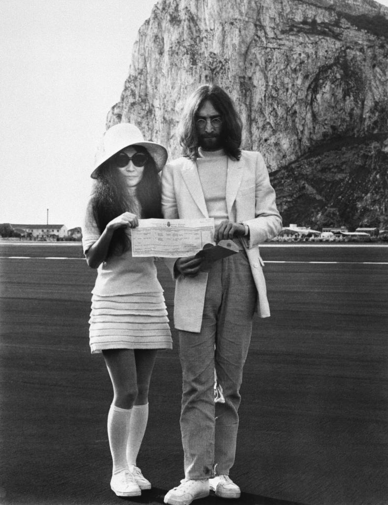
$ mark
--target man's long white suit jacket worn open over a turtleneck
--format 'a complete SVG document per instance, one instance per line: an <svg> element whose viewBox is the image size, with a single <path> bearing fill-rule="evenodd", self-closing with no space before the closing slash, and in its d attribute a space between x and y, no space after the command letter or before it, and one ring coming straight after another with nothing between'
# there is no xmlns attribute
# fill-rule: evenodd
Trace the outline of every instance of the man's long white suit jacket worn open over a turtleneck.
<svg viewBox="0 0 388 505"><path fill-rule="evenodd" d="M264 262L258 244L275 237L282 229L282 219L276 208L275 191L260 153L242 151L239 161L228 159L226 180L228 218L249 226L249 239L243 246L249 260L257 289L257 311L269 317ZM162 209L165 219L208 218L197 164L187 158L168 163L162 171ZM166 263L173 273L176 259ZM199 332L202 325L208 274L196 277L178 276L174 296L174 324L179 330Z"/></svg>

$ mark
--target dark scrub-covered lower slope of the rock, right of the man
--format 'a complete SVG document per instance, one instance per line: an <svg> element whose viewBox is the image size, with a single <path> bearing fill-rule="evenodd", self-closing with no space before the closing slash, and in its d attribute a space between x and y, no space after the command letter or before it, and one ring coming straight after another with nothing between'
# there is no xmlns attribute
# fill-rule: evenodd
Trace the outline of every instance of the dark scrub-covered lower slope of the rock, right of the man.
<svg viewBox="0 0 388 505"><path fill-rule="evenodd" d="M331 139L272 172L284 223L388 227L386 136Z"/></svg>

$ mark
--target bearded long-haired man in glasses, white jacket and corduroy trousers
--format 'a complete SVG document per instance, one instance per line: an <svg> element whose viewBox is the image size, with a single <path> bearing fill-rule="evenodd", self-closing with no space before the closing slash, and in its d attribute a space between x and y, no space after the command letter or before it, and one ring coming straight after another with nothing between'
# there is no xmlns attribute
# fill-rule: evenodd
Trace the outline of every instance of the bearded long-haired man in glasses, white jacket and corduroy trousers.
<svg viewBox="0 0 388 505"><path fill-rule="evenodd" d="M209 495L239 498L229 477L238 428L239 389L255 309L270 315L258 243L275 237L282 220L260 153L240 149L242 122L219 86L199 87L179 125L183 157L162 172L166 219L214 218L215 242L230 239L238 254L203 263L179 258L174 323L183 374L180 427L185 478L166 494L171 505ZM214 378L222 394L215 401Z"/></svg>

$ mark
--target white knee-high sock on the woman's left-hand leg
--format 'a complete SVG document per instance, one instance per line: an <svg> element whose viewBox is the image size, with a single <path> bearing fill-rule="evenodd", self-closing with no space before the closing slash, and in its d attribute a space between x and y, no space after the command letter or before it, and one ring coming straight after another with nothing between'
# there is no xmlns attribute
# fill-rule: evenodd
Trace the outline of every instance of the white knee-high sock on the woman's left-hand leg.
<svg viewBox="0 0 388 505"><path fill-rule="evenodd" d="M130 431L132 409L121 409L111 405L108 413L108 438L113 461L112 473L127 468L126 444Z"/></svg>

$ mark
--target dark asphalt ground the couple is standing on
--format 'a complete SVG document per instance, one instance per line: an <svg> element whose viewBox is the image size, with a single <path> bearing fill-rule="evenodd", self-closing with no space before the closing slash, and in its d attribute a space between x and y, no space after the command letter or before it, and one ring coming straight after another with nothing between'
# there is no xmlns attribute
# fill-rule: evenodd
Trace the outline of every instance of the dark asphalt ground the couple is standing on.
<svg viewBox="0 0 388 505"><path fill-rule="evenodd" d="M196 505L388 503L387 253L262 248L272 317L255 317L244 369L231 471L242 496ZM172 315L173 284L157 265ZM109 488L111 385L88 344L95 275L79 244L0 242L1 505L163 503L183 477L173 331L138 460L153 488L132 499Z"/></svg>

